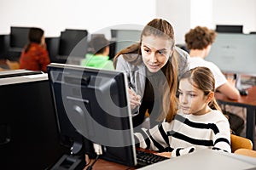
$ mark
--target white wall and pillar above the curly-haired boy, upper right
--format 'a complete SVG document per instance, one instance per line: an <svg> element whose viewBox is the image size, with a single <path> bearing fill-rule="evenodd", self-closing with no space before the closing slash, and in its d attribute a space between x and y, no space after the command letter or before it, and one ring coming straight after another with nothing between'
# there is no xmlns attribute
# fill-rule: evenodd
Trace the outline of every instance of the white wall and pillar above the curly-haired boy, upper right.
<svg viewBox="0 0 256 170"><path fill-rule="evenodd" d="M172 23L177 43L195 26L243 25L244 33L256 31L255 0L157 0L156 16Z"/></svg>

